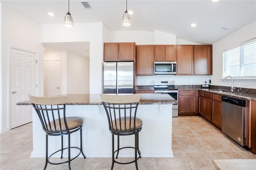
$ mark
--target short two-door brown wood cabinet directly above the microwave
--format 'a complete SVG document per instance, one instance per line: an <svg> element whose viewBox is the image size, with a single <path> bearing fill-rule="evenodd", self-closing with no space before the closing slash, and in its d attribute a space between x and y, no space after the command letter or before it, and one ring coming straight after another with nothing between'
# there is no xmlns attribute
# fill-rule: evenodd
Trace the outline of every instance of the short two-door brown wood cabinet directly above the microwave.
<svg viewBox="0 0 256 170"><path fill-rule="evenodd" d="M154 45L154 61L176 61L176 45Z"/></svg>

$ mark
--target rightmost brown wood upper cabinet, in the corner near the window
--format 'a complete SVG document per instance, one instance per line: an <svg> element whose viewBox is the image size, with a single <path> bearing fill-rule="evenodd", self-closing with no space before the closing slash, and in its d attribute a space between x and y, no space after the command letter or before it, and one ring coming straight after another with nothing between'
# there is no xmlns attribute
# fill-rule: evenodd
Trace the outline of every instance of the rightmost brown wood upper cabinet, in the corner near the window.
<svg viewBox="0 0 256 170"><path fill-rule="evenodd" d="M212 45L194 45L194 74L212 74Z"/></svg>

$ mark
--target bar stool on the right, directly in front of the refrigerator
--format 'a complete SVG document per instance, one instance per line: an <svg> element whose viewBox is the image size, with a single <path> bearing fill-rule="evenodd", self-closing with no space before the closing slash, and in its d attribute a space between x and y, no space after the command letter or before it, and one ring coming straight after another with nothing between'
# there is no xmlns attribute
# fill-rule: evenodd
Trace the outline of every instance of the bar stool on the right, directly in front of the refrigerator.
<svg viewBox="0 0 256 170"><path fill-rule="evenodd" d="M138 104L140 101L140 94L133 95L108 95L100 94L102 104L105 108L109 130L112 133L112 166L114 163L118 164L130 164L135 162L136 170L138 170L137 160L141 158L139 150L139 132L142 129L142 120L136 117ZM117 150L114 150L114 135L117 136ZM122 147L120 148L119 142L120 136L135 135L134 147ZM118 158L119 151L121 149L132 148L135 150L135 158L131 162L118 162L114 158L116 153L116 159Z"/></svg>

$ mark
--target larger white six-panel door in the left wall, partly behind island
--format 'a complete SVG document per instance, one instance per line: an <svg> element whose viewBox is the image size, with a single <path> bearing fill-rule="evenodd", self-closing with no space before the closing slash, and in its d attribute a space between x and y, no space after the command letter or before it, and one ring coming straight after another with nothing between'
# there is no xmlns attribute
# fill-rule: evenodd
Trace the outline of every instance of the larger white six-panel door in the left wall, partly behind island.
<svg viewBox="0 0 256 170"><path fill-rule="evenodd" d="M11 129L32 122L32 106L17 106L17 102L36 95L36 54L11 48L10 50L10 119Z"/></svg>

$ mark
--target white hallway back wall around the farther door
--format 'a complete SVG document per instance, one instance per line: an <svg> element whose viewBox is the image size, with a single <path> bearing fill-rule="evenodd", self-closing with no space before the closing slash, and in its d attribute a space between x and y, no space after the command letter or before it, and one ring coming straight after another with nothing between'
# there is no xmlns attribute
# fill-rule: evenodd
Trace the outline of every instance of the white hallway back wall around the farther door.
<svg viewBox="0 0 256 170"><path fill-rule="evenodd" d="M60 63L61 63L60 94L67 94L67 52L66 51L45 51L44 61L47 61L47 60L60 60ZM44 73L40 75L44 75Z"/></svg>

